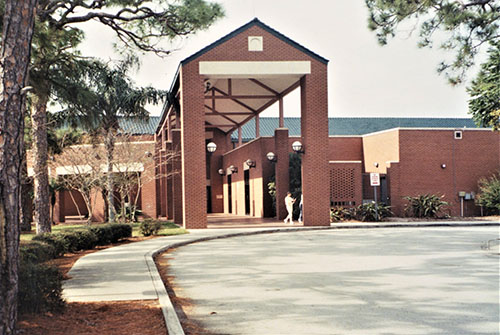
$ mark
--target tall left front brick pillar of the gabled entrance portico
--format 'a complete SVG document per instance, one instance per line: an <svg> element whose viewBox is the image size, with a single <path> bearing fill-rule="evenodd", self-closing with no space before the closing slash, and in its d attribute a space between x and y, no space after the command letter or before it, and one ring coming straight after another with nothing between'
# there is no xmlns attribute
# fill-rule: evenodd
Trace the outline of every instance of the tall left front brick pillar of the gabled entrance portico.
<svg viewBox="0 0 500 335"><path fill-rule="evenodd" d="M205 104L198 64L181 68L182 210L186 229L207 227Z"/></svg>

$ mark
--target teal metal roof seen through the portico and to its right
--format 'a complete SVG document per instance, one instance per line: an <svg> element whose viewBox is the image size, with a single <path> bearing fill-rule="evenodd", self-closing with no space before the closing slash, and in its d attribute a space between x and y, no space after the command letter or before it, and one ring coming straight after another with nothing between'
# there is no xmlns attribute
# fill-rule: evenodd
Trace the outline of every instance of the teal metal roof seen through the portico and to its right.
<svg viewBox="0 0 500 335"><path fill-rule="evenodd" d="M285 118L285 128L290 136L300 136L300 118ZM260 136L274 136L278 128L277 117L260 118ZM467 118L389 118L389 117L335 117L328 119L328 133L334 135L365 135L392 128L478 128L472 119ZM242 128L243 141L255 138L255 119ZM238 140L238 131L231 134L233 141Z"/></svg>

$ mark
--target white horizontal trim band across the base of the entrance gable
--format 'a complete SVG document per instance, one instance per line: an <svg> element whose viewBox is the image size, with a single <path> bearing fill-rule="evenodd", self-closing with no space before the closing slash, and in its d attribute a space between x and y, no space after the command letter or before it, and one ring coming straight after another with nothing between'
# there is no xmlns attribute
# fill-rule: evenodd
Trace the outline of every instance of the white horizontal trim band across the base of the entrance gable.
<svg viewBox="0 0 500 335"><path fill-rule="evenodd" d="M269 78L311 73L310 61L200 62L200 75L210 78Z"/></svg>

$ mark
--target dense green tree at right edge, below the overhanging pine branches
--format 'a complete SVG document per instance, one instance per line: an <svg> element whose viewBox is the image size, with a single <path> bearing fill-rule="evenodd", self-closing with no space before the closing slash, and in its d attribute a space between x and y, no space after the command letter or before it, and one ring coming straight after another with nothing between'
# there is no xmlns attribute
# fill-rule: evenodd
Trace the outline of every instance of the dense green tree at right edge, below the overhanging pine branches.
<svg viewBox="0 0 500 335"><path fill-rule="evenodd" d="M488 55L467 90L469 113L478 126L500 130L500 41L492 43Z"/></svg>

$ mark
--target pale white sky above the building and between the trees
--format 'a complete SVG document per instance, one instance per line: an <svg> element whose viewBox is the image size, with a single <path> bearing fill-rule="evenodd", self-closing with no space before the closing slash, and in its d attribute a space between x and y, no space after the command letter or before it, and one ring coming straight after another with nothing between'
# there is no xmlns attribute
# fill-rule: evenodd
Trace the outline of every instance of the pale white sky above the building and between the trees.
<svg viewBox="0 0 500 335"><path fill-rule="evenodd" d="M168 90L179 65L203 47L254 17L328 59L330 117L470 117L466 85L452 87L436 68L450 54L419 49L416 32L404 31L380 46L367 28L363 0L220 0L225 17L208 30L175 41L166 58L141 57L132 74L136 84ZM99 24L83 27L82 52L105 60L119 59L116 39ZM473 77L473 72L469 78ZM285 117L300 116L298 90L285 98ZM152 115L160 107L149 107ZM277 106L261 116L278 116Z"/></svg>

